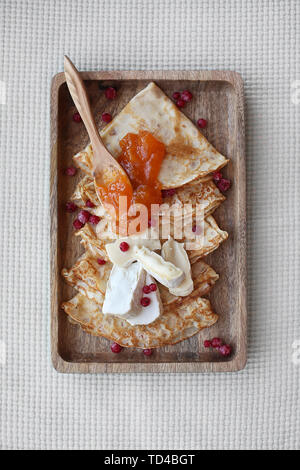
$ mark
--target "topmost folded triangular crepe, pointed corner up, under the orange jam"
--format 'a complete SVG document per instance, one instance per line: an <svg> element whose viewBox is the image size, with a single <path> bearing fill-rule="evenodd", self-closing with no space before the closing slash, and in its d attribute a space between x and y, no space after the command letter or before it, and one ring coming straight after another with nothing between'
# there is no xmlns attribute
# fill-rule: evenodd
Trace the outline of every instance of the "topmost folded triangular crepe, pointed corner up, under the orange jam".
<svg viewBox="0 0 300 470"><path fill-rule="evenodd" d="M163 188L178 188L219 170L228 162L153 82L132 98L100 134L108 151L118 158L120 140L129 132L140 130L151 132L166 146L159 174ZM91 174L91 144L73 158L79 168Z"/></svg>

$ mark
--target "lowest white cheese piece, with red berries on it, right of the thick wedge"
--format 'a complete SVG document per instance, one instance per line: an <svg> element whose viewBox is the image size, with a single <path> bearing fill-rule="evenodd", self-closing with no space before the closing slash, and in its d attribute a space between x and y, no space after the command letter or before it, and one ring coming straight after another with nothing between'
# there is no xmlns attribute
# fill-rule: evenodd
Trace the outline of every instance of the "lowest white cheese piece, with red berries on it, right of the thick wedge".
<svg viewBox="0 0 300 470"><path fill-rule="evenodd" d="M155 284L156 282L150 274L146 274L146 284ZM149 325L154 322L162 313L162 303L160 300L159 290L156 285L156 291L149 294L141 293L141 297L149 297L150 304L143 307L141 304L131 314L126 315L126 320L131 325Z"/></svg>

